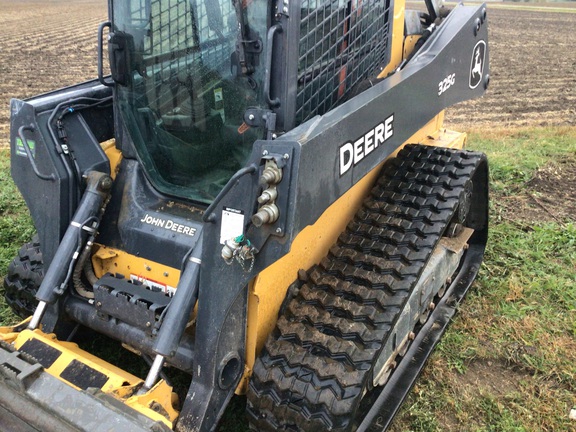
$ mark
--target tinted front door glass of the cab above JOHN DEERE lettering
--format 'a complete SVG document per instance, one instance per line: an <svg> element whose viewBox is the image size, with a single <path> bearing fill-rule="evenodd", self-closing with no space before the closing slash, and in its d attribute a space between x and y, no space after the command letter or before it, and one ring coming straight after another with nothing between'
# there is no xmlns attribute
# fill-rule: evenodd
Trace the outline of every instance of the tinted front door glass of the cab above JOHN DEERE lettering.
<svg viewBox="0 0 576 432"><path fill-rule="evenodd" d="M258 1L257 14L244 12L258 26L250 34L265 35L265 0L250 4ZM244 76L234 68L234 4L124 0L114 8L133 65L131 79L119 88L119 105L147 175L163 192L210 202L262 135L243 123L245 110L260 104L263 71Z"/></svg>

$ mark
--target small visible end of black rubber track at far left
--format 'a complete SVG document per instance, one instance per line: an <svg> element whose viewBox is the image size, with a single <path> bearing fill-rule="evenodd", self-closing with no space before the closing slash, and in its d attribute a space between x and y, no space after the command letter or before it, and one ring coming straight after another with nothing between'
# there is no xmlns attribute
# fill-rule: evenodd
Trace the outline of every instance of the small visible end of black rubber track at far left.
<svg viewBox="0 0 576 432"><path fill-rule="evenodd" d="M8 266L4 278L4 298L12 310L22 318L36 310L36 292L44 278L44 263L38 236L25 243Z"/></svg>

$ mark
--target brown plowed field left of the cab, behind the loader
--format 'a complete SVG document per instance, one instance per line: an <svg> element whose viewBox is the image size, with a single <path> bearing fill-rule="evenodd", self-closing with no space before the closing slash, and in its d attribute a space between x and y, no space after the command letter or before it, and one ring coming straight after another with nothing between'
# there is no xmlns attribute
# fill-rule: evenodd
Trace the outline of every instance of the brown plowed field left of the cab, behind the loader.
<svg viewBox="0 0 576 432"><path fill-rule="evenodd" d="M10 99L96 77L106 0L0 0L0 146L9 144Z"/></svg>

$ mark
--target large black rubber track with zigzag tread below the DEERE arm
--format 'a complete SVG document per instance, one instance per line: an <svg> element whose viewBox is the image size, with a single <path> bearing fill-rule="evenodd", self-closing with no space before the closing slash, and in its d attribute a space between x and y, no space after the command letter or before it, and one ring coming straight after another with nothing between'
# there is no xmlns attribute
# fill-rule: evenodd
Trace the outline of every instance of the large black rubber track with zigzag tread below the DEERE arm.
<svg viewBox="0 0 576 432"><path fill-rule="evenodd" d="M409 145L384 167L256 360L253 429L355 428L372 366L482 161L481 153Z"/></svg>

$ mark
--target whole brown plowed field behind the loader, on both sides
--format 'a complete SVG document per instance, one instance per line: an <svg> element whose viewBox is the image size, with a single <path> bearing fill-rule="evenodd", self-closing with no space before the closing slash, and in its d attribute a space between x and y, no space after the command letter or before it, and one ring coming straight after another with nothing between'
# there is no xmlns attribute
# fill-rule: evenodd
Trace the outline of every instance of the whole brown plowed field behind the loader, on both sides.
<svg viewBox="0 0 576 432"><path fill-rule="evenodd" d="M576 126L576 50L571 39L576 13L496 6L489 11L489 92L451 108L448 125ZM97 28L106 16L105 0L0 0L0 146L8 145L10 98L96 76Z"/></svg>

